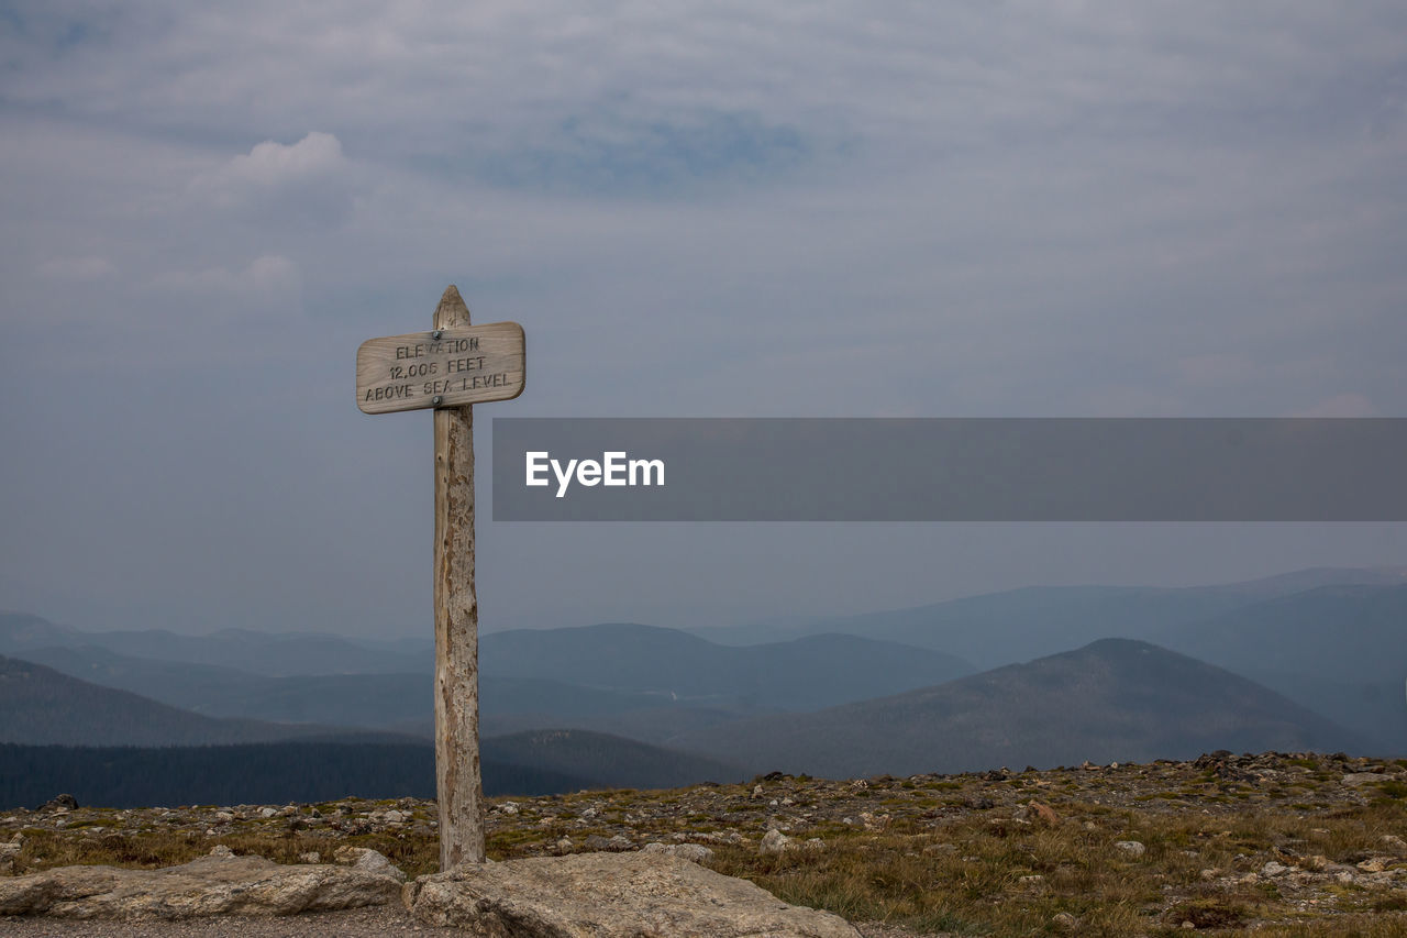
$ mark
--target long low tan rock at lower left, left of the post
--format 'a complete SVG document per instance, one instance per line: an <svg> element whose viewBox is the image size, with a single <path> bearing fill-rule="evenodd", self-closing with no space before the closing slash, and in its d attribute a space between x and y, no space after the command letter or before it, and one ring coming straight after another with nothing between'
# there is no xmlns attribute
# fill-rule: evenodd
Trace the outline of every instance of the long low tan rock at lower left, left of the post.
<svg viewBox="0 0 1407 938"><path fill-rule="evenodd" d="M0 915L291 915L384 906L400 892L401 883L391 876L343 866L280 866L262 856L203 856L165 869L61 866L0 879Z"/></svg>

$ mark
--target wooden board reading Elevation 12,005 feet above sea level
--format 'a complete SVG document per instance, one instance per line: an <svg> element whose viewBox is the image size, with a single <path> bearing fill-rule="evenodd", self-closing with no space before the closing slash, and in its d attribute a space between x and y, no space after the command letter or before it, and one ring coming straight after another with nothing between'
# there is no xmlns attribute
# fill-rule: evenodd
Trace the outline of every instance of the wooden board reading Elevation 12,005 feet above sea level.
<svg viewBox="0 0 1407 938"><path fill-rule="evenodd" d="M523 393L523 327L490 323L387 335L356 351L363 414L459 407Z"/></svg>

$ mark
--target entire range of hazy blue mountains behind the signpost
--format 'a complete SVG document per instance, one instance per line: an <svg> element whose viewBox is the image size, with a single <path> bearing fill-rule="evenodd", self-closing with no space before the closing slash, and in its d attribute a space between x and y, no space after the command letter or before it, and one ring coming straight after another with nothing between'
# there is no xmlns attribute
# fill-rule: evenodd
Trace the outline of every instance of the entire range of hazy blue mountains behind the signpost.
<svg viewBox="0 0 1407 938"><path fill-rule="evenodd" d="M1123 641L1100 641L1110 638ZM433 724L428 639L87 632L7 613L0 655L11 659L0 661L0 742L394 746ZM480 663L485 779L492 752L509 787L1217 748L1397 755L1407 570L1033 587L695 634L521 630L483 635ZM539 732L560 730L577 732Z"/></svg>

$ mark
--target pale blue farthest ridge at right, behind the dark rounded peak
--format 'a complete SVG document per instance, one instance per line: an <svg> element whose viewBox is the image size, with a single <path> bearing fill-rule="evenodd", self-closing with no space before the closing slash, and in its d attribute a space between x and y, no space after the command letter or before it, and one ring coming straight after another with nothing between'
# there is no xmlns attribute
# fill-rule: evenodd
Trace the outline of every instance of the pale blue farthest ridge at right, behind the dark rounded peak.
<svg viewBox="0 0 1407 938"><path fill-rule="evenodd" d="M940 648L998 668L1100 638L1150 641L1263 683L1352 727L1377 751L1407 745L1407 568L1311 568L1192 587L1026 587L933 606L789 621L761 635L839 630ZM744 630L696 630L757 641ZM732 637L732 638L730 638Z"/></svg>

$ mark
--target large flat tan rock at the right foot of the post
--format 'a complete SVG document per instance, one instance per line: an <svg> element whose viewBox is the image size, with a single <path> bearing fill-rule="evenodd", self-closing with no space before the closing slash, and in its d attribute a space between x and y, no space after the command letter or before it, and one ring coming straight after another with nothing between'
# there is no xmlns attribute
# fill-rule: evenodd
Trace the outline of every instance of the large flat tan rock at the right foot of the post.
<svg viewBox="0 0 1407 938"><path fill-rule="evenodd" d="M860 938L839 915L666 853L464 865L402 897L419 921L481 938Z"/></svg>

